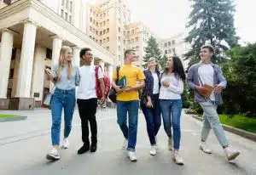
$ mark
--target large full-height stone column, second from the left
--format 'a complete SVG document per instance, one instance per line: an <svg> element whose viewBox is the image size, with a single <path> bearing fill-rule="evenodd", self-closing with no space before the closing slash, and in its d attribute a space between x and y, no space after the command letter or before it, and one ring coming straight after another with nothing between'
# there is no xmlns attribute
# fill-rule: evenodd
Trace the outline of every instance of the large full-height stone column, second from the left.
<svg viewBox="0 0 256 175"><path fill-rule="evenodd" d="M25 21L16 89L16 97L19 98L31 98L32 66L36 33L37 25L30 20Z"/></svg>

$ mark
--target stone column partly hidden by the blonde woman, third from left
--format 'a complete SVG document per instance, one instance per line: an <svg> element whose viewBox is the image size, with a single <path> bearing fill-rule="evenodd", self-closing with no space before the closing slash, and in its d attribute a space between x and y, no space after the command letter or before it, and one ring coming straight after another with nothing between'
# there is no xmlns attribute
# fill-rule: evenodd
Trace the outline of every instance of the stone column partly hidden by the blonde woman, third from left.
<svg viewBox="0 0 256 175"><path fill-rule="evenodd" d="M59 36L52 37L53 43L52 43L52 59L51 59L51 67L54 65L58 65L59 57L60 57L60 51L62 47L62 39Z"/></svg>

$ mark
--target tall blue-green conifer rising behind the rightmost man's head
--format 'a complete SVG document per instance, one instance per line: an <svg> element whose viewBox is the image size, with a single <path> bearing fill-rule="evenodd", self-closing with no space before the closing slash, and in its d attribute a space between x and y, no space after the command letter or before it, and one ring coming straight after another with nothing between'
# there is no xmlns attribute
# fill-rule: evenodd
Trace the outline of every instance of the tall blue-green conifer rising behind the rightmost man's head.
<svg viewBox="0 0 256 175"><path fill-rule="evenodd" d="M189 14L191 27L186 42L191 44L191 50L186 53L189 66L199 61L201 46L211 44L215 48L213 63L224 60L224 51L237 46L236 29L234 26L234 0L189 0L192 11Z"/></svg>

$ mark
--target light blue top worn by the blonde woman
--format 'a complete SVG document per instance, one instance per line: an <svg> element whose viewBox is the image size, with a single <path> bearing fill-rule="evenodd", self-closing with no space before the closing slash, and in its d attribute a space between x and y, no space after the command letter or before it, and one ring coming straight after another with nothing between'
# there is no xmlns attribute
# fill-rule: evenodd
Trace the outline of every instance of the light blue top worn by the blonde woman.
<svg viewBox="0 0 256 175"><path fill-rule="evenodd" d="M68 78L67 68L66 68L66 66L62 65L61 79L59 79L57 82L55 82L56 88L60 88L62 90L71 90L71 89L76 88L76 86L79 85L79 81L80 81L79 67L74 66L73 68L74 68L73 76L71 78ZM52 71L56 77L58 75L58 65L55 65L52 68Z"/></svg>

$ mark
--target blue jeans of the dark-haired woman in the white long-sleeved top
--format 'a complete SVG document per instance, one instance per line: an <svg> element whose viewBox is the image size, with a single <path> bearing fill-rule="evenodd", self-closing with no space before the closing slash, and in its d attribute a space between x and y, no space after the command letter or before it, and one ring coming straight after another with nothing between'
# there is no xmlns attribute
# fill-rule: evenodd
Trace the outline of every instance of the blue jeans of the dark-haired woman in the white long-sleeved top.
<svg viewBox="0 0 256 175"><path fill-rule="evenodd" d="M173 129L173 147L175 150L179 150L181 137L180 117L182 111L182 100L160 99L160 111L163 116L166 134L169 138L172 138Z"/></svg>

